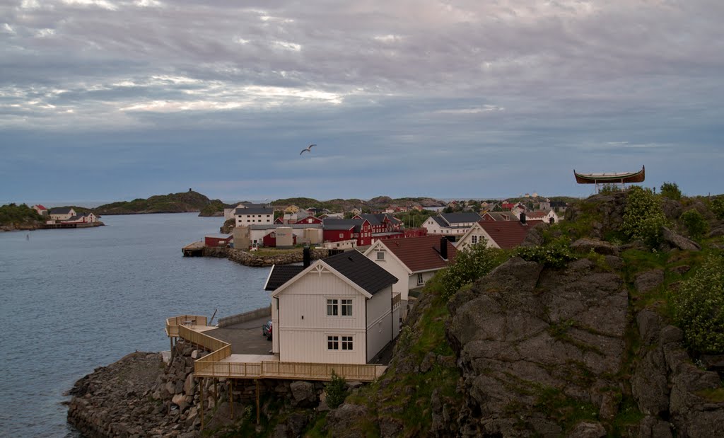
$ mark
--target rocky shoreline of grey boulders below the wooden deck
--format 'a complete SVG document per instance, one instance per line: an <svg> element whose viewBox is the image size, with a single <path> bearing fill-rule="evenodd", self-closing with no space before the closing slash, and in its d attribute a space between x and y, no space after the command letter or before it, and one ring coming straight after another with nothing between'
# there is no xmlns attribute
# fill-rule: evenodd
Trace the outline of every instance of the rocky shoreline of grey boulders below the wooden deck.
<svg viewBox="0 0 724 438"><path fill-rule="evenodd" d="M180 340L169 363L160 353L133 352L96 368L68 392L68 423L88 438L201 437L202 380L195 379L193 362L207 353ZM322 382L258 383L260 416L274 423L275 436L299 436L313 413L328 410ZM227 379L203 379L203 436L232 429L236 434L230 436L248 436L261 430L256 425L255 381L235 380L232 403L229 384Z"/></svg>

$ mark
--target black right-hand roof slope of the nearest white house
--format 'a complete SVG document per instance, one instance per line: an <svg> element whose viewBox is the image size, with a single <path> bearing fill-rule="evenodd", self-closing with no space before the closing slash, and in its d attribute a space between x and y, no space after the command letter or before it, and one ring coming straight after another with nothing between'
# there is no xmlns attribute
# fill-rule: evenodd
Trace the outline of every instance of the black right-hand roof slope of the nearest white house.
<svg viewBox="0 0 724 438"><path fill-rule="evenodd" d="M327 257L322 261L371 295L390 284L397 283L397 277L356 249Z"/></svg>

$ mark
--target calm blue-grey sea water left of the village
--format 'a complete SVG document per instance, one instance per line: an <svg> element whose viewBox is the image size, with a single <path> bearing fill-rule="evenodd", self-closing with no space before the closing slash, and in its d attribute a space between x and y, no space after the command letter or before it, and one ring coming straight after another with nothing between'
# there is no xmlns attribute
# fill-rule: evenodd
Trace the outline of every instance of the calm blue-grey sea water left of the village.
<svg viewBox="0 0 724 438"><path fill-rule="evenodd" d="M0 436L75 436L63 392L129 352L168 350L169 316L210 318L218 309L219 318L269 304L269 268L182 257L183 246L218 233L222 218L101 220L106 226L0 233Z"/></svg>

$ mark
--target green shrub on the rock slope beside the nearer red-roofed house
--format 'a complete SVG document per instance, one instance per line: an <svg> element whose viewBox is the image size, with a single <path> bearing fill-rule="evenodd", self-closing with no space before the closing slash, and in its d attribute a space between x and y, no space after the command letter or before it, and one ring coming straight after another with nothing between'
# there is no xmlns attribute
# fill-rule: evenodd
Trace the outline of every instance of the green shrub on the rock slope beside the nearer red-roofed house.
<svg viewBox="0 0 724 438"><path fill-rule="evenodd" d="M452 297L460 287L486 276L500 265L504 258L505 255L500 249L488 248L484 240L458 251L455 262L437 274L442 285L442 295L446 298Z"/></svg>

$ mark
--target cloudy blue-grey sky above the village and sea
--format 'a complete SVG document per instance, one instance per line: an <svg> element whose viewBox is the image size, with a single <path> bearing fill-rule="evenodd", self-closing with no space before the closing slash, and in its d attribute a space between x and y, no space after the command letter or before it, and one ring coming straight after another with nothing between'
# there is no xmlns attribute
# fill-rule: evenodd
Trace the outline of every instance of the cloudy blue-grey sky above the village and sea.
<svg viewBox="0 0 724 438"><path fill-rule="evenodd" d="M724 1L0 0L0 203L724 192ZM311 152L300 155L308 144Z"/></svg>

